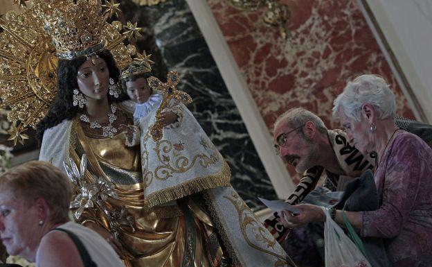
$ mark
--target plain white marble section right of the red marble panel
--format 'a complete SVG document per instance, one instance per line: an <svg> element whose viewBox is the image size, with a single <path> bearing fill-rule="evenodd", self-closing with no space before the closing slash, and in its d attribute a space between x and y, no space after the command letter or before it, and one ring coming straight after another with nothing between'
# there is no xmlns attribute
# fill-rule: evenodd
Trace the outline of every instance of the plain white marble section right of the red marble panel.
<svg viewBox="0 0 432 267"><path fill-rule="evenodd" d="M432 123L432 1L358 3L415 116Z"/></svg>

